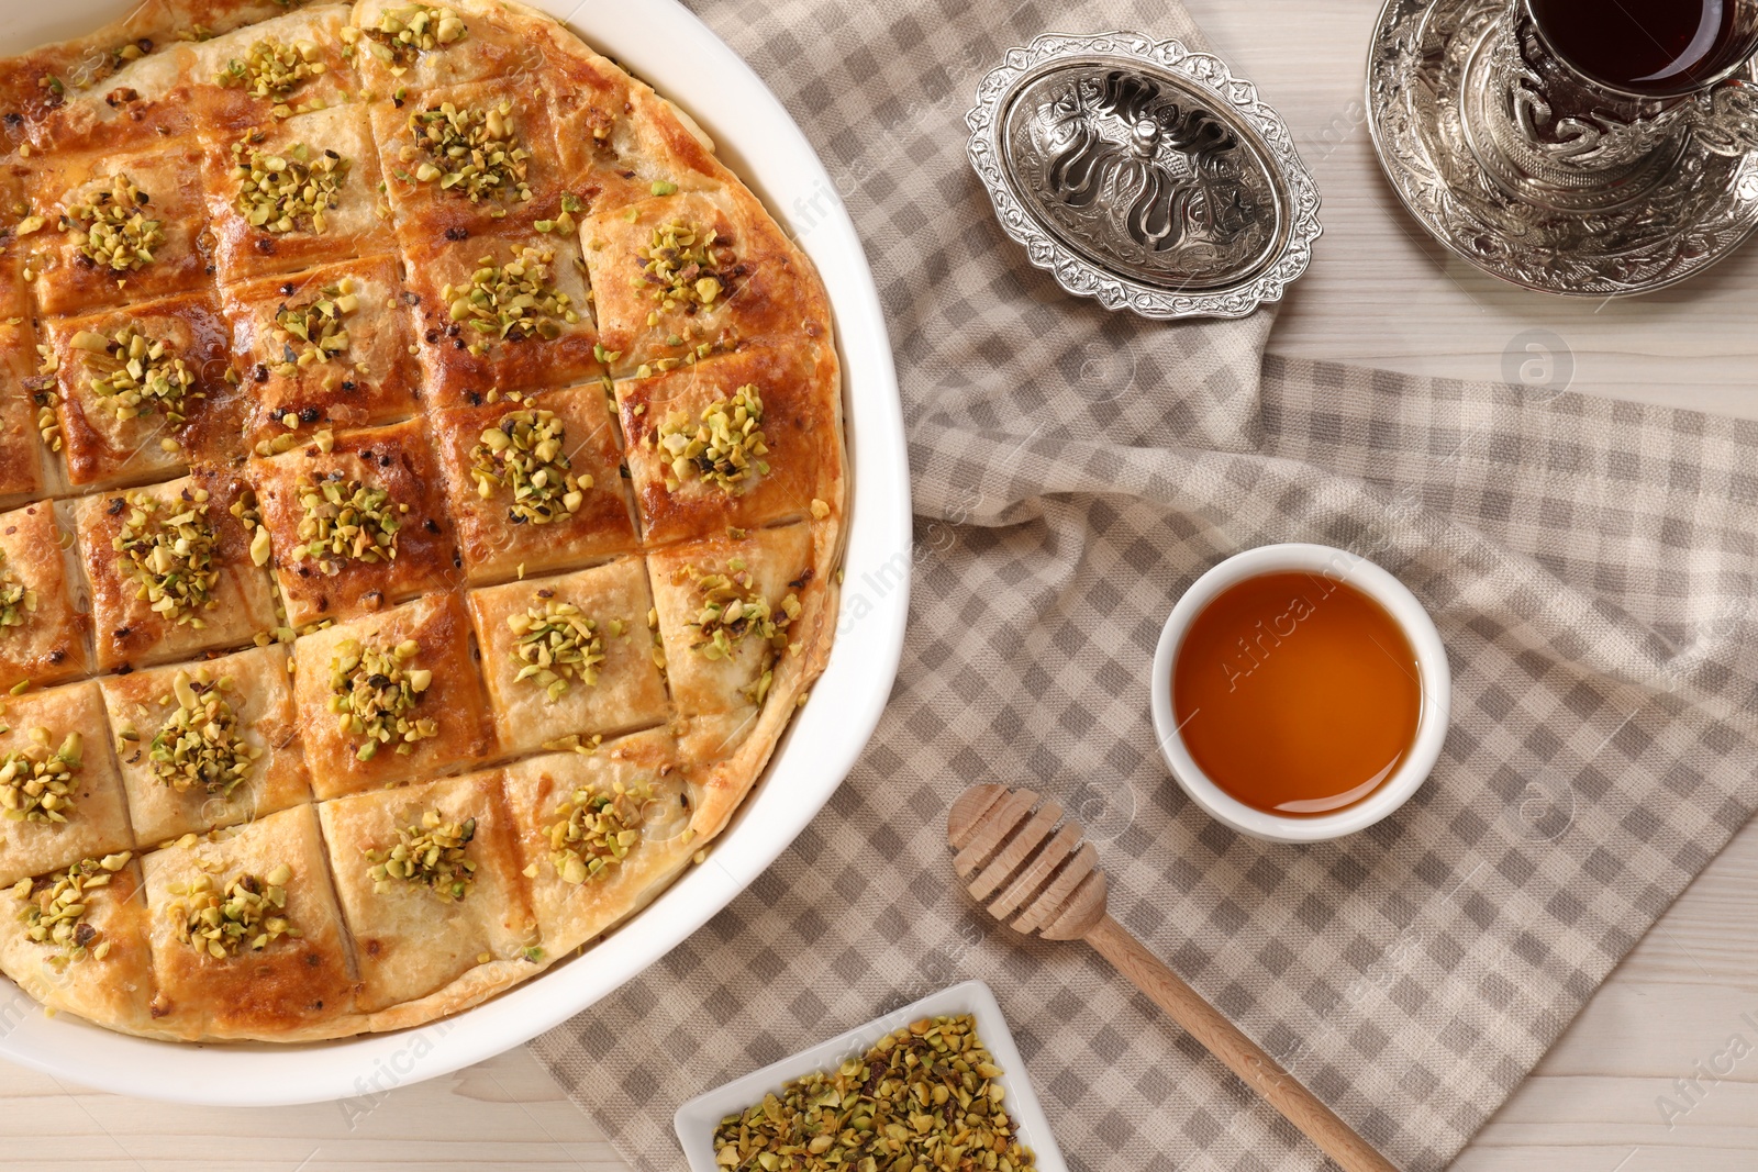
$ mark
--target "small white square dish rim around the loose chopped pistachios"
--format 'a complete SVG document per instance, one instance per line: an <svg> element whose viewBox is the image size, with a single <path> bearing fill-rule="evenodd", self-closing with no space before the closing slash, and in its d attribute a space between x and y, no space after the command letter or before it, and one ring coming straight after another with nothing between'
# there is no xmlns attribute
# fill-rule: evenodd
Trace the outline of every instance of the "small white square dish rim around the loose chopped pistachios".
<svg viewBox="0 0 1758 1172"><path fill-rule="evenodd" d="M872 1049L879 1038L893 1030L921 1021L923 1017L955 1017L970 1014L977 1023L977 1038L988 1047L1000 1067L999 1082L1004 1088L1002 1107L1013 1118L1020 1142L1032 1149L1039 1172L1067 1172L1062 1151L1050 1133L1050 1119L1032 1093L1032 1082L1025 1074L1025 1060L1013 1042L1013 1031L1000 1016L995 995L981 980L965 980L949 989L941 989L930 996L912 1002L904 1009L875 1017L847 1033L819 1042L798 1054L782 1058L747 1075L714 1088L677 1109L672 1126L677 1130L679 1144L684 1146L684 1158L689 1172L724 1172L716 1161L714 1128L726 1116L740 1114L745 1107L763 1102L770 1091L779 1091L784 1082L805 1077L817 1070L833 1070L847 1058L858 1058Z"/></svg>

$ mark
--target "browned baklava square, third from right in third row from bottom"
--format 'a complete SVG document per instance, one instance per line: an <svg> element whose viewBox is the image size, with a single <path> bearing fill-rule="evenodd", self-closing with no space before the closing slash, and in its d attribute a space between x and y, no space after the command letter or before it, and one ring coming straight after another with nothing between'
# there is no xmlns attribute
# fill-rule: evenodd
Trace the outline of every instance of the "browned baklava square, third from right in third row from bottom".
<svg viewBox="0 0 1758 1172"><path fill-rule="evenodd" d="M251 476L294 627L383 610L461 576L420 420L320 434L251 460Z"/></svg>

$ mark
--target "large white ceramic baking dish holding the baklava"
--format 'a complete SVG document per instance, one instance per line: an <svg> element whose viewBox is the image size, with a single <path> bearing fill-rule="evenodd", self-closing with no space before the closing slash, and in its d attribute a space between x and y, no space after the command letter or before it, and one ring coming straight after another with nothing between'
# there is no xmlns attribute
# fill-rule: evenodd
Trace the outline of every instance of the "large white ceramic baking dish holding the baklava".
<svg viewBox="0 0 1758 1172"><path fill-rule="evenodd" d="M468 1067L591 1007L726 907L793 842L854 764L891 692L909 610L904 420L879 295L854 225L775 95L675 0L527 0L689 111L721 158L817 264L844 365L851 494L846 585L830 664L770 768L701 866L585 954L418 1030L311 1045L186 1045L47 1017L0 979L0 1058L121 1095L274 1105L380 1095ZM76 37L130 0L12 4L0 56Z"/></svg>

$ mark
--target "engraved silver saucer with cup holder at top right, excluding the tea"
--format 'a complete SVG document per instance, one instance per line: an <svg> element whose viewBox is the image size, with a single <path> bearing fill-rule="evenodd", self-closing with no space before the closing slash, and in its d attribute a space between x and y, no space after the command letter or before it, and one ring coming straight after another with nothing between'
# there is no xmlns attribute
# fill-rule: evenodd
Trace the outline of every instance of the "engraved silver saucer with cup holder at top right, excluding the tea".
<svg viewBox="0 0 1758 1172"><path fill-rule="evenodd" d="M1758 228L1751 63L1668 102L1572 91L1510 0L1387 0L1368 125L1392 188L1491 276L1573 297L1677 285ZM1566 95L1566 100L1554 95Z"/></svg>

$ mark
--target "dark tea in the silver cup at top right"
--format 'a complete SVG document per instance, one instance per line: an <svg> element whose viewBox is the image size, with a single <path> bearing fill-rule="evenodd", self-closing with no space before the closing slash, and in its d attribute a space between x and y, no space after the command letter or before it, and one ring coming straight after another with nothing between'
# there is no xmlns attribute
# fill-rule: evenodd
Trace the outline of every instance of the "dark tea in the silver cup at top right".
<svg viewBox="0 0 1758 1172"><path fill-rule="evenodd" d="M1614 90L1675 97L1758 47L1758 0L1526 0L1551 51Z"/></svg>

